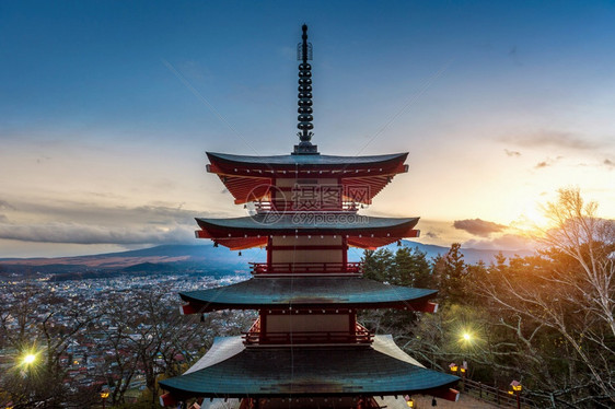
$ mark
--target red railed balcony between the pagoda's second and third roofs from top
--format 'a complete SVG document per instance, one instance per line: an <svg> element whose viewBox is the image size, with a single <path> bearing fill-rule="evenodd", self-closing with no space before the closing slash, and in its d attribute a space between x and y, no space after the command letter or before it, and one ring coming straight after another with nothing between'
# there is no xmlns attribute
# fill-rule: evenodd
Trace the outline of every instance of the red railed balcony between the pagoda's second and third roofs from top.
<svg viewBox="0 0 615 409"><path fill-rule="evenodd" d="M259 274L361 274L363 262L251 262L251 271Z"/></svg>

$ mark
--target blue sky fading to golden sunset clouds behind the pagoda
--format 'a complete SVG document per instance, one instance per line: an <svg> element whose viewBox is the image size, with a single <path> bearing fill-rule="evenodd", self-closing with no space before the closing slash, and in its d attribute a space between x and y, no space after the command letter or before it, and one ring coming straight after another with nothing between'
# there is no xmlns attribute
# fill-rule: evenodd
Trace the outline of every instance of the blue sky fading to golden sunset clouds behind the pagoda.
<svg viewBox="0 0 615 409"><path fill-rule="evenodd" d="M205 151L409 152L367 214L521 249L575 187L615 219L608 1L0 1L0 257L195 243L241 217Z"/></svg>

